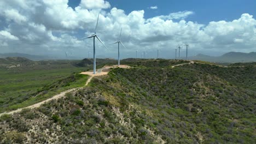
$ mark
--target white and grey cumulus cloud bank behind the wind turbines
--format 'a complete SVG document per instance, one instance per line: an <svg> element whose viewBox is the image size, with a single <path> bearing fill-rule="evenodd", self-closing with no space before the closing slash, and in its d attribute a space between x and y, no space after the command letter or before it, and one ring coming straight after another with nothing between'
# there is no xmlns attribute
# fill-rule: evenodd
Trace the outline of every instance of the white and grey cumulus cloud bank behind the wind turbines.
<svg viewBox="0 0 256 144"><path fill-rule="evenodd" d="M7 23L0 31L0 44L8 52L60 55L63 51L72 51L74 56L83 57L91 51L92 41L78 39L94 32L98 13L97 34L104 43L113 43L122 27L121 40L128 49L121 51L130 56L142 49L171 53L178 43L190 44L191 50L218 52L255 51L256 45L256 20L249 14L242 14L233 21L212 21L202 25L185 20L194 14L193 11L146 19L144 10L129 14L118 8L105 11L110 8L110 3L103 0L82 0L74 9L68 6L68 0L3 0L0 6L0 21ZM98 56L115 58L114 45L109 46L110 52L98 42L96 47ZM166 57L170 57L167 52Z"/></svg>

